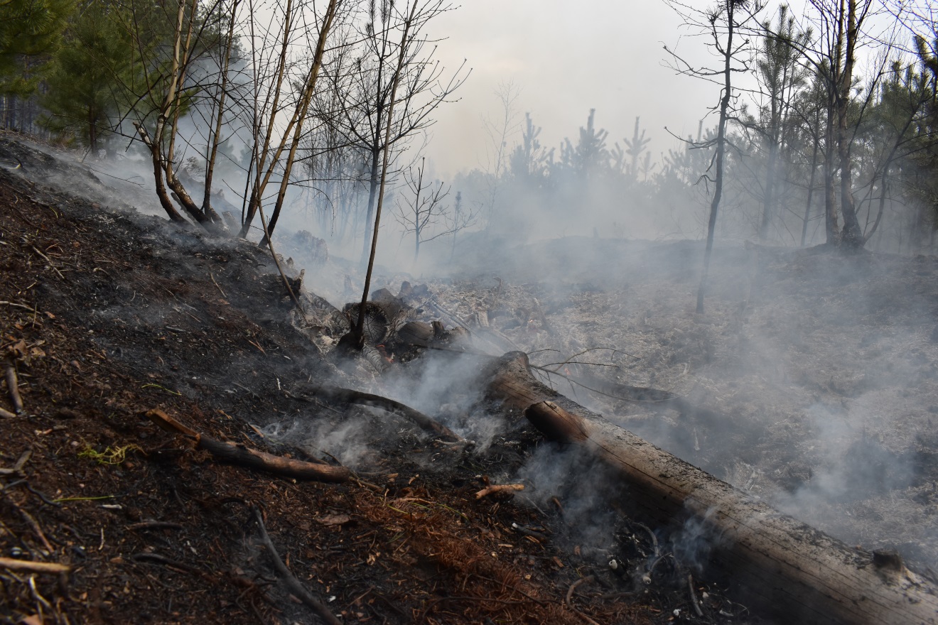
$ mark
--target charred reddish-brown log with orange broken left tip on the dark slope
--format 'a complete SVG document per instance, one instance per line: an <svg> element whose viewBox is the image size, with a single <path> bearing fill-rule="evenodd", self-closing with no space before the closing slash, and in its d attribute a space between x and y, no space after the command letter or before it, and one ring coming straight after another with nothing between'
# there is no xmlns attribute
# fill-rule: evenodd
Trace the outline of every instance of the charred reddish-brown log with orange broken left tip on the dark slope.
<svg viewBox="0 0 938 625"><path fill-rule="evenodd" d="M348 482L352 477L352 471L345 467L320 465L293 458L284 458L280 455L266 454L239 443L213 439L180 424L162 410L149 410L146 412L146 417L167 432L181 434L194 440L198 449L204 449L220 462L230 465L262 470L296 480L314 482Z"/></svg>

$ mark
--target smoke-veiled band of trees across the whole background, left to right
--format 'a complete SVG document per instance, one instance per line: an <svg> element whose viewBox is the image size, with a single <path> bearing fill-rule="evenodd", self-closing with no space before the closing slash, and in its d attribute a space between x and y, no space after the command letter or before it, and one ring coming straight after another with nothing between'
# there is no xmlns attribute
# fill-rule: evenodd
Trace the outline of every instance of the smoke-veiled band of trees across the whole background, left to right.
<svg viewBox="0 0 938 625"><path fill-rule="evenodd" d="M424 159L426 131L467 75L433 59L428 24L449 9L10 0L0 5L0 120L93 156L130 145L176 221L265 244L289 212L324 238L356 241L363 260L384 200L415 257L433 240L452 254L474 229L699 237L711 216L724 238L934 246L938 33L927 3L809 0L795 15L717 0L684 15L712 36L718 63L694 69L719 98L677 148L653 150L666 137L648 136L639 117L630 136L610 137L596 111L544 145L504 84L501 111L482 125L487 162L442 181ZM673 56L692 73L682 63Z"/></svg>

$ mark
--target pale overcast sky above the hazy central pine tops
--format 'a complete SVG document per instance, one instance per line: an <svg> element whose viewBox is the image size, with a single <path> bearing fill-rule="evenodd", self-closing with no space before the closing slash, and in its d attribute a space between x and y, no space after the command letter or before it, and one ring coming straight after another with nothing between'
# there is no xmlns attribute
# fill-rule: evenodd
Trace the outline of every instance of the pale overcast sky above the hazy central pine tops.
<svg viewBox="0 0 938 625"><path fill-rule="evenodd" d="M679 42L687 33L660 0L464 0L437 18L432 30L448 37L438 51L446 67L458 67L464 57L473 68L457 92L461 100L436 115L429 156L441 177L484 165L481 116L500 114L493 96L499 82L521 87L520 118L531 112L548 147L564 137L575 140L596 109L610 147L631 137L641 116L655 156L676 144L664 126L681 136L695 133L719 98L714 85L664 67L663 44L688 52L696 44Z"/></svg>

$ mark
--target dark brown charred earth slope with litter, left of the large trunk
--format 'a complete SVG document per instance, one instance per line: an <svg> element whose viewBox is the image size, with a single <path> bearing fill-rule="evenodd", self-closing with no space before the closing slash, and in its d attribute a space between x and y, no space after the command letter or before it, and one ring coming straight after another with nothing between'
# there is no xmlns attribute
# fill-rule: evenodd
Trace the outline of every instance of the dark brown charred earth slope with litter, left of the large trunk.
<svg viewBox="0 0 938 625"><path fill-rule="evenodd" d="M298 397L310 381L352 383L355 372L337 370L289 322L269 256L87 200L99 190L90 175L2 147L22 167L0 171L0 351L24 410L0 417L0 556L70 573L0 566L0 620L315 620L259 546L255 508L289 569L346 623L688 614L686 577L673 558L653 558L656 539L621 513L616 540L628 553L610 553L634 559L625 577L608 554L580 549L562 492L550 508L476 498L489 476L513 474L545 444L528 426L467 452L385 413ZM70 192L48 186L53 174L68 176ZM0 407L14 409L6 389ZM150 423L150 409L298 458L330 448L277 444L269 435L280 425L354 423L366 470L352 483L297 484L220 465ZM743 609L722 588L695 586L709 620Z"/></svg>

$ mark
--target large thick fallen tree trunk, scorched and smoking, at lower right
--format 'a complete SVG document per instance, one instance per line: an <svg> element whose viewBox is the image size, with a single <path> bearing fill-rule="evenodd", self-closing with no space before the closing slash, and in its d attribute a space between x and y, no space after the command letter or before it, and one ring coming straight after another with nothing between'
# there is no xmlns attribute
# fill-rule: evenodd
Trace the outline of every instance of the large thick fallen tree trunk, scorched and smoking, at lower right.
<svg viewBox="0 0 938 625"><path fill-rule="evenodd" d="M841 543L609 423L534 379L522 352L488 375L493 399L617 469L641 513L661 524L696 517L712 537L709 564L748 602L786 622L938 623L938 588L900 558Z"/></svg>

